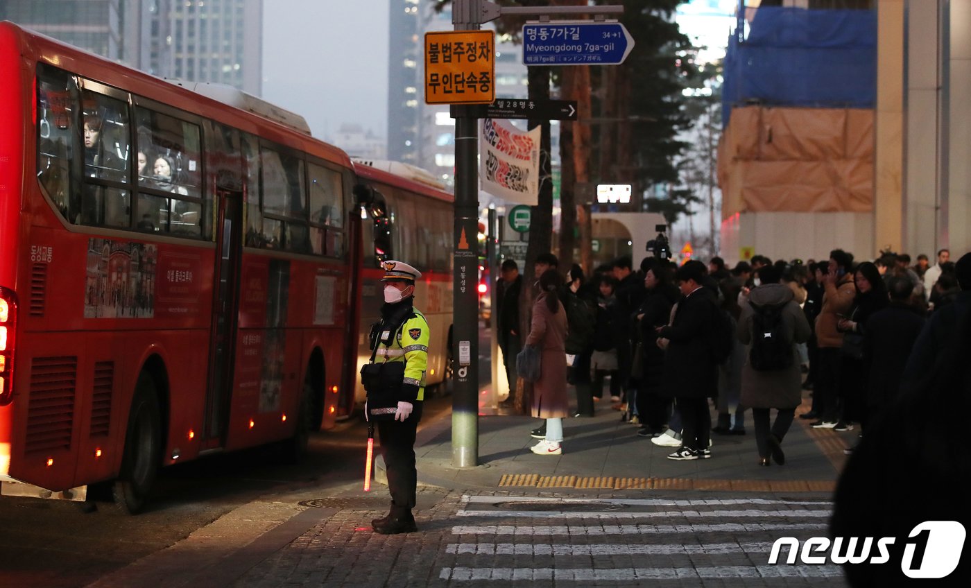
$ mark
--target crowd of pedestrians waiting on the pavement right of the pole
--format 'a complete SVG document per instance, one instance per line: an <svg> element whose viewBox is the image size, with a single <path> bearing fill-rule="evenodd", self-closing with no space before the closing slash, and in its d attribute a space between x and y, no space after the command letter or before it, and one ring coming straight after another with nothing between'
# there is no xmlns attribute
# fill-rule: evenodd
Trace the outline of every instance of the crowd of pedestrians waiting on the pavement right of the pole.
<svg viewBox="0 0 971 588"><path fill-rule="evenodd" d="M647 257L637 270L620 257L591 276L557 265L537 258L528 323L515 261L503 262L499 284L499 344L511 390L529 386L532 415L545 419L531 433L540 454L562 453L562 417L609 404L638 436L672 448L669 459L708 459L713 433L747 434L751 408L758 463L783 465L803 390L812 408L800 417L812 427L862 437L933 373L971 309L971 253L953 263L947 249L934 265L889 252L857 261L842 249L819 262L755 255L731 269L720 257ZM536 382L516 373L523 344L542 349Z"/></svg>

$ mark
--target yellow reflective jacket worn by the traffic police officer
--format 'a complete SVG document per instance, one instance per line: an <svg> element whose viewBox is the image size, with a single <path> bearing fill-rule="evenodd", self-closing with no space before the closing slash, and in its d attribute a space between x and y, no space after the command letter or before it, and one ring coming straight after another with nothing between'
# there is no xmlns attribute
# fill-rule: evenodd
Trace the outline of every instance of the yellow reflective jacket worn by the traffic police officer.
<svg viewBox="0 0 971 588"><path fill-rule="evenodd" d="M405 362L405 379L401 384L401 400L424 400L424 375L428 369L428 322L418 309L398 328L397 334L378 333L375 363ZM385 343L387 342L387 343Z"/></svg>

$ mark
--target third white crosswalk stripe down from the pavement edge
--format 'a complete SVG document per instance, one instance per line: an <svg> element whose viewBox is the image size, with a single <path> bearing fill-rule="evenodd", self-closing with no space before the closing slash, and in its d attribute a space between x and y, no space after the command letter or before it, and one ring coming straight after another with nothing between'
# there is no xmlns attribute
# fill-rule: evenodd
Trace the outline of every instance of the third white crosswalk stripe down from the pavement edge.
<svg viewBox="0 0 971 588"><path fill-rule="evenodd" d="M671 533L758 533L778 531L817 531L824 524L782 523L719 523L713 525L455 525L452 535L516 535L529 536L601 536L601 535L663 535Z"/></svg>

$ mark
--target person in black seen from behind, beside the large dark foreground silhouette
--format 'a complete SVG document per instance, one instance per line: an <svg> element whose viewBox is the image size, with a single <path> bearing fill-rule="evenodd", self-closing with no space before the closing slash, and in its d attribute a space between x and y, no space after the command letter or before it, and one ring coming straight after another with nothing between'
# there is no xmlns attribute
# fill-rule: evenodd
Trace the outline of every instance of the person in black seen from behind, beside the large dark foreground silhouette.
<svg viewBox="0 0 971 588"><path fill-rule="evenodd" d="M863 352L870 365L865 412L868 422L896 399L907 358L923 328L921 311L910 304L913 281L894 276L887 280L887 287L890 306L874 312L864 330Z"/></svg>

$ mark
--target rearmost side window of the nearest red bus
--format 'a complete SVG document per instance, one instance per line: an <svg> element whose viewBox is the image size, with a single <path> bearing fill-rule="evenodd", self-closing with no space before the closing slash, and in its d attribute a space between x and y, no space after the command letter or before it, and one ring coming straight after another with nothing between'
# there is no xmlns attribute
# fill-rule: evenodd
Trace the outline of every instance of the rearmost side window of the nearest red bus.
<svg viewBox="0 0 971 588"><path fill-rule="evenodd" d="M37 75L37 177L57 212L77 222L78 204L71 206L72 127L74 78L41 66ZM72 209L74 209L72 211Z"/></svg>

